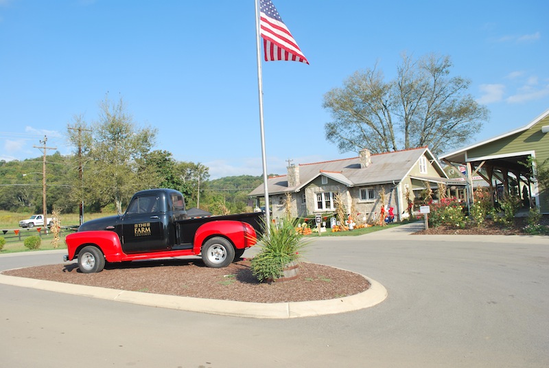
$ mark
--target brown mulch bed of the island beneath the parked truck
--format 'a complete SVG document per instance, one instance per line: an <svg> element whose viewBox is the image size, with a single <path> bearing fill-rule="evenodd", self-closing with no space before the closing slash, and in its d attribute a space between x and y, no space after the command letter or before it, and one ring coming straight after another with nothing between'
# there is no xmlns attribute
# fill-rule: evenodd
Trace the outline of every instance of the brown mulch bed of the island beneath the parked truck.
<svg viewBox="0 0 549 368"><path fill-rule="evenodd" d="M301 262L292 281L259 283L250 262L208 268L201 260L170 259L107 264L100 273L81 273L78 264L54 264L4 271L4 275L118 290L151 292L259 303L325 300L355 295L370 287L358 275L339 268Z"/></svg>

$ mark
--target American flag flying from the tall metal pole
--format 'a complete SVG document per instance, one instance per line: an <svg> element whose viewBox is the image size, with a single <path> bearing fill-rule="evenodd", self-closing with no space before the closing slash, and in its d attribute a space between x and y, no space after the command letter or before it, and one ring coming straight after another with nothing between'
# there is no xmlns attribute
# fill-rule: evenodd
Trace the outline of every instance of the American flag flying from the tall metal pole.
<svg viewBox="0 0 549 368"><path fill-rule="evenodd" d="M261 11L259 32L263 37L265 61L292 60L309 64L272 1L260 0L259 10Z"/></svg>

